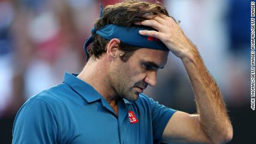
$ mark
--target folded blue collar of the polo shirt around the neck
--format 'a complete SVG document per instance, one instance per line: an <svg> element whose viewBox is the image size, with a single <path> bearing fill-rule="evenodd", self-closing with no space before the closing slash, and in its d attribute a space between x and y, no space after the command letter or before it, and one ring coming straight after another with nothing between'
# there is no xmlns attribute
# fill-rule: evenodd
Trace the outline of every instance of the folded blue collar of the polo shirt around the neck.
<svg viewBox="0 0 256 144"><path fill-rule="evenodd" d="M85 81L77 78L78 74L65 72L63 83L67 83L74 91L76 91L80 96L85 98L87 102L94 102L103 98L99 92L95 90L91 85ZM132 105L132 103L124 98L126 105Z"/></svg>

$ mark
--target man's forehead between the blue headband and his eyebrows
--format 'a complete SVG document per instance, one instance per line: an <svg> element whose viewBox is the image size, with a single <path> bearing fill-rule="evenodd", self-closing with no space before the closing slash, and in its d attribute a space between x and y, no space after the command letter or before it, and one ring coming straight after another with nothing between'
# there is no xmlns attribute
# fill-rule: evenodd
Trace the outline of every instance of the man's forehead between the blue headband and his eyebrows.
<svg viewBox="0 0 256 144"><path fill-rule="evenodd" d="M168 54L168 51L140 48L134 52L130 59L134 59L134 61L154 62L157 65L164 67L168 59Z"/></svg>

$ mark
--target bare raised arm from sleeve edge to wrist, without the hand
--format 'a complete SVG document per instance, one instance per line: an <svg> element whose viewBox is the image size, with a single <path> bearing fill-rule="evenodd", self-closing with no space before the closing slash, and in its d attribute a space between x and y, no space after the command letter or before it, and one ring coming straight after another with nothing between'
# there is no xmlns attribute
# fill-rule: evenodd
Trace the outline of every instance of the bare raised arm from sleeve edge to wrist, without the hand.
<svg viewBox="0 0 256 144"><path fill-rule="evenodd" d="M233 130L222 95L196 48L193 53L181 60L193 86L198 115L176 113L166 126L164 141L227 143Z"/></svg>

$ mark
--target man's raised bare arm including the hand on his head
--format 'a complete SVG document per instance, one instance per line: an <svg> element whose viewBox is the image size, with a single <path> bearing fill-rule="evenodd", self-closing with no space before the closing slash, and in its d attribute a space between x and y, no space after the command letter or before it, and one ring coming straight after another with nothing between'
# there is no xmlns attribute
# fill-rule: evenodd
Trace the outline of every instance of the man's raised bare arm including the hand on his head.
<svg viewBox="0 0 256 144"><path fill-rule="evenodd" d="M232 139L233 129L220 90L194 44L185 36L173 18L147 17L138 22L158 30L140 34L159 38L183 62L193 86L198 115L176 112L163 133L165 142L226 143Z"/></svg>

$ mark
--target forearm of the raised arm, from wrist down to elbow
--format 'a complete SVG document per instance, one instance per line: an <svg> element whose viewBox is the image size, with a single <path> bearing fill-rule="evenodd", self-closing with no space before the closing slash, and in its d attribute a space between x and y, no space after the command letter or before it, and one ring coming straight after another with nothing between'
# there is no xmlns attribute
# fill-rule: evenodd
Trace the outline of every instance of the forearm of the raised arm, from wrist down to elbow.
<svg viewBox="0 0 256 144"><path fill-rule="evenodd" d="M181 60L193 87L201 129L214 143L230 140L233 135L232 125L218 85L206 69L195 46L191 49L193 51L189 56Z"/></svg>

